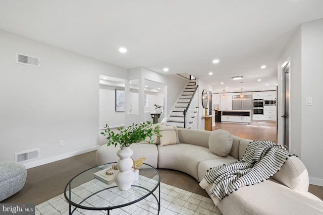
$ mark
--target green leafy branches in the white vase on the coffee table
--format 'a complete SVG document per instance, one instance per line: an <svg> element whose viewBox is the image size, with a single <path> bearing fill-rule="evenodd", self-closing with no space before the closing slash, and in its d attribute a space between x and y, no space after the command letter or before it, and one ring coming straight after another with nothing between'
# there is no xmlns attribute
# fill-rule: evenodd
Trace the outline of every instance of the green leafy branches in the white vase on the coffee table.
<svg viewBox="0 0 323 215"><path fill-rule="evenodd" d="M161 136L159 134L159 126L152 126L153 124L150 121L139 124L132 123L132 125L125 129L123 127L118 128L120 132L114 132L106 124L106 129L101 134L107 136L106 139L109 140L107 146L115 145L117 147L119 144L121 147L128 147L133 143L145 140L146 137L149 137L148 143L152 144L152 135L156 134L156 137Z"/></svg>

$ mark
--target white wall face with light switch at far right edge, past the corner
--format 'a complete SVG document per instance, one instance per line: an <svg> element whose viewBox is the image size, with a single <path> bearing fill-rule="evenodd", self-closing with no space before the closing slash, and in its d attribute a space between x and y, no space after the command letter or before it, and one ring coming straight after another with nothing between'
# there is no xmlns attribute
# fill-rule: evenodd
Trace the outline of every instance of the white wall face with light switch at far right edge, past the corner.
<svg viewBox="0 0 323 215"><path fill-rule="evenodd" d="M321 138L323 115L323 19L302 25L302 108L301 141L302 161L308 169L310 182L323 186L323 140ZM307 97L313 105L305 105Z"/></svg>

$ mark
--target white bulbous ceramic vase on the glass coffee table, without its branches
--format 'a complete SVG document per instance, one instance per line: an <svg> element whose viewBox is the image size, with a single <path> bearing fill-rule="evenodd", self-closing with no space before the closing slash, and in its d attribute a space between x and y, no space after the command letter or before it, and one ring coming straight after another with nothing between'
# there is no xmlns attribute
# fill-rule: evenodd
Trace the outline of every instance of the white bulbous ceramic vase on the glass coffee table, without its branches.
<svg viewBox="0 0 323 215"><path fill-rule="evenodd" d="M130 147L120 147L120 150L117 152L117 156L120 159L117 162L119 172L115 176L115 182L120 190L128 190L135 179L134 172L132 171L132 154L133 151Z"/></svg>

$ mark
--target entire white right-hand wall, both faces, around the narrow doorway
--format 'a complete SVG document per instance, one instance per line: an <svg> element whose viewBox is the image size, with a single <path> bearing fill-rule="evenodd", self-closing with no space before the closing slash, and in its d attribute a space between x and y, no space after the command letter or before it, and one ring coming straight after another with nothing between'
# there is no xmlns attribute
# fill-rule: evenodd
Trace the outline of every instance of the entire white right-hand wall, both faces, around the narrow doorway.
<svg viewBox="0 0 323 215"><path fill-rule="evenodd" d="M310 183L323 186L323 142L320 135L323 115L321 80L323 80L323 19L304 23L279 58L278 80L281 80L281 64L290 60L291 77L291 151L305 164ZM279 82L279 94L282 93ZM305 104L306 98L313 99L313 105ZM279 111L281 99L278 103ZM281 112L280 112L281 113ZM279 118L278 137L282 139Z"/></svg>

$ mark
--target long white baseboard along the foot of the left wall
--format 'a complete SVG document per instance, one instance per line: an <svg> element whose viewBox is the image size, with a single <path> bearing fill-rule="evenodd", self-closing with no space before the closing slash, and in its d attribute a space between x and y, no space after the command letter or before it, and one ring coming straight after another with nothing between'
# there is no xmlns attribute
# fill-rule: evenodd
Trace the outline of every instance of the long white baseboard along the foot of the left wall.
<svg viewBox="0 0 323 215"><path fill-rule="evenodd" d="M44 164L48 164L48 163L52 163L55 161L60 161L66 158L71 158L73 156L77 156L77 155L81 155L87 152L92 152L94 150L97 150L100 146L94 146L94 147L90 147L87 149L83 149L83 150L79 150L79 151L75 151L75 152L70 152L64 155L59 155L59 156L55 156L55 157L51 157L51 158L46 158L46 159L42 159L42 160L37 160L37 161L32 161L30 163L24 163L26 169L29 168L33 168L33 167L38 167L40 165L44 165Z"/></svg>

